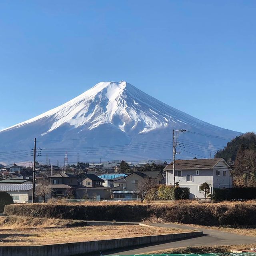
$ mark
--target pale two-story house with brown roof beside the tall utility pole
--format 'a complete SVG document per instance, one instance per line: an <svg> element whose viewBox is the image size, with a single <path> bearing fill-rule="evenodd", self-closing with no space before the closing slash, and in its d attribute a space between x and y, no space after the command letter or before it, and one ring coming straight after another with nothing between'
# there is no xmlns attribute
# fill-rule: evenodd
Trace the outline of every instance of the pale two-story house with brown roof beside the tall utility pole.
<svg viewBox="0 0 256 256"><path fill-rule="evenodd" d="M164 168L166 171L166 185L173 185L173 163ZM232 169L223 158L191 159L175 161L175 182L180 187L190 188L190 198L204 198L199 186L207 182L210 193L214 188L231 188Z"/></svg>

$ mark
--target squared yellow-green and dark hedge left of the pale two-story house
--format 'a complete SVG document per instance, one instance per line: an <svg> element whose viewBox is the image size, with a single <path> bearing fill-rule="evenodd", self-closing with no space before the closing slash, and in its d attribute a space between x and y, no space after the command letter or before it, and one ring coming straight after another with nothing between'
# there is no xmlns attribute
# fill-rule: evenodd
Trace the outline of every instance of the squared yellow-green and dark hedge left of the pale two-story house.
<svg viewBox="0 0 256 256"><path fill-rule="evenodd" d="M179 200L189 198L189 188L173 187L161 185L158 188L158 197L160 200Z"/></svg>

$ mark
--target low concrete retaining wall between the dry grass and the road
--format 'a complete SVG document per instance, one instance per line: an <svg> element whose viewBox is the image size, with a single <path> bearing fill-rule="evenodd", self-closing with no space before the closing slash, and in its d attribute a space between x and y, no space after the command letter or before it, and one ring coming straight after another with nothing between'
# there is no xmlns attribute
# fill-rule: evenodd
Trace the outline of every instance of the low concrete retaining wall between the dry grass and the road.
<svg viewBox="0 0 256 256"><path fill-rule="evenodd" d="M151 244L165 242L182 238L201 236L202 231L190 233L167 234L157 236L140 236L131 238L120 238L110 240L98 240L90 242L77 242L66 244L50 244L38 246L0 246L0 256L70 256L84 254L88 252L100 252L115 248L136 246L141 244Z"/></svg>

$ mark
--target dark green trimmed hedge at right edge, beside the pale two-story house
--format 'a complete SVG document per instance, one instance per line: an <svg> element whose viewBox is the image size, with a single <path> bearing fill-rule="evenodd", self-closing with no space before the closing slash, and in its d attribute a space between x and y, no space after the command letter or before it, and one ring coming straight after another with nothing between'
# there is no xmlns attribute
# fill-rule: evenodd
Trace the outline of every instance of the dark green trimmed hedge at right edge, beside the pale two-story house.
<svg viewBox="0 0 256 256"><path fill-rule="evenodd" d="M254 200L256 199L256 188L214 188L214 200Z"/></svg>

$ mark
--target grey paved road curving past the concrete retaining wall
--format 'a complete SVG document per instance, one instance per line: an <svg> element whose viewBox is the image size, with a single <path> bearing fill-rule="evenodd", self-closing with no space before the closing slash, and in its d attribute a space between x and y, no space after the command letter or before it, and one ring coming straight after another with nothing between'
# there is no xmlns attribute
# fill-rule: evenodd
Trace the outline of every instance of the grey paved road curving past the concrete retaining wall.
<svg viewBox="0 0 256 256"><path fill-rule="evenodd" d="M184 228L184 229L195 229L191 226L186 225L176 225L176 224L162 224L162 223L154 223L152 226L158 227L169 227L169 228ZM120 248L113 250L111 252L107 252L109 255L132 255L132 254L141 254L146 252L153 252L159 250L166 250L170 248L177 247L186 247L186 246L212 246L212 245L232 245L232 244L253 244L256 243L255 236L243 236L237 234L231 234L227 232L221 232L218 230L211 230L207 228L201 228L204 232L204 236L189 238L184 240L178 240L173 242L165 242L161 244L152 244L152 245L142 245L136 246L133 248ZM104 254L104 252L102 252Z"/></svg>

